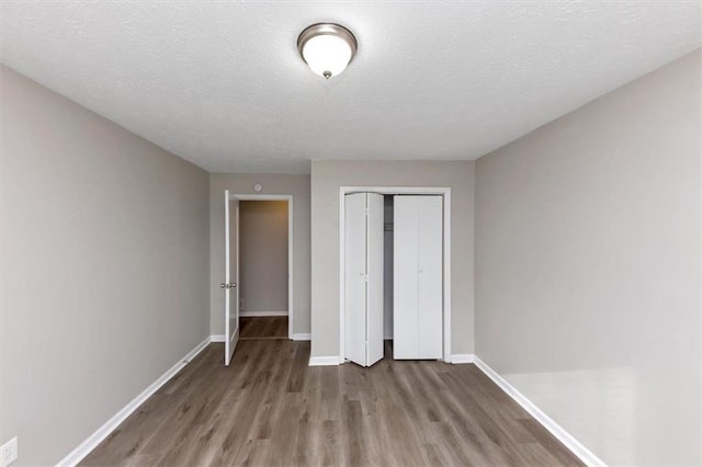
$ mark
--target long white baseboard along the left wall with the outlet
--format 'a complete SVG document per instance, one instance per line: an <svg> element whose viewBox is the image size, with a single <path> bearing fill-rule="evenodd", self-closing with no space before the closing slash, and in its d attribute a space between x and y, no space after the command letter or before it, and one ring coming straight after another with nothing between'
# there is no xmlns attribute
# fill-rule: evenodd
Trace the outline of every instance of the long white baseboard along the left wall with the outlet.
<svg viewBox="0 0 702 467"><path fill-rule="evenodd" d="M200 352L202 352L211 342L211 338L207 337L204 341L195 345L193 350L180 358L178 363L171 366L166 373L163 373L156 381L151 383L149 387L144 389L141 394L132 399L129 403L124 406L117 413L115 413L110 420L107 420L102 426L100 426L93 434L88 436L86 441L80 443L78 447L70 452L69 455L64 457L57 466L75 466L80 463L92 449L110 435L123 421L127 419L141 403L146 401L154 392L156 392L161 386L163 386L170 378L176 376L185 365L188 365Z"/></svg>

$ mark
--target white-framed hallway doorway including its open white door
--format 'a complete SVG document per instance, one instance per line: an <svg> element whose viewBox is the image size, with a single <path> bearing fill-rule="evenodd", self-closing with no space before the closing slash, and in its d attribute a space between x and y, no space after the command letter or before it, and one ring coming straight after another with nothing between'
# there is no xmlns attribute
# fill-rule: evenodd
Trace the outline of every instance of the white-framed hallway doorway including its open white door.
<svg viewBox="0 0 702 467"><path fill-rule="evenodd" d="M292 339L293 196L225 192L225 365L239 340Z"/></svg>

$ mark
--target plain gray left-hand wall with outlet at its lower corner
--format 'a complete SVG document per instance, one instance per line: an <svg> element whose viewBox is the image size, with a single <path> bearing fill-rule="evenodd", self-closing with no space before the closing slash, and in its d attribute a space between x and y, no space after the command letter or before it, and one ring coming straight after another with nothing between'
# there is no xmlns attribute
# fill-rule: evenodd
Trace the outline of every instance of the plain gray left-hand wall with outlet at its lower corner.
<svg viewBox="0 0 702 467"><path fill-rule="evenodd" d="M1 78L0 443L48 465L210 334L208 175Z"/></svg>

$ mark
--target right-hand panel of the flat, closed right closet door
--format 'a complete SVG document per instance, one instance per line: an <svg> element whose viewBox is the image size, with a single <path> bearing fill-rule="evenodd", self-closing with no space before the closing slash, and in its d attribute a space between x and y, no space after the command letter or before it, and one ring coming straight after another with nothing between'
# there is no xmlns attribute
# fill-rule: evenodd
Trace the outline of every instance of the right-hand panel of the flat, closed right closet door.
<svg viewBox="0 0 702 467"><path fill-rule="evenodd" d="M443 327L443 201L441 196L417 198L419 358L442 357Z"/></svg>

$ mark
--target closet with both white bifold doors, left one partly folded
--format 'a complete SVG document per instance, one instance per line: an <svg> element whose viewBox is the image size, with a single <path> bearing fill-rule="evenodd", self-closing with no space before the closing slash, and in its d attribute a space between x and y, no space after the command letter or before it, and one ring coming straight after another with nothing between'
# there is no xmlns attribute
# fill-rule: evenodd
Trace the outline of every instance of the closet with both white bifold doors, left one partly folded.
<svg viewBox="0 0 702 467"><path fill-rule="evenodd" d="M347 194L343 281L347 360L441 358L442 196Z"/></svg>

